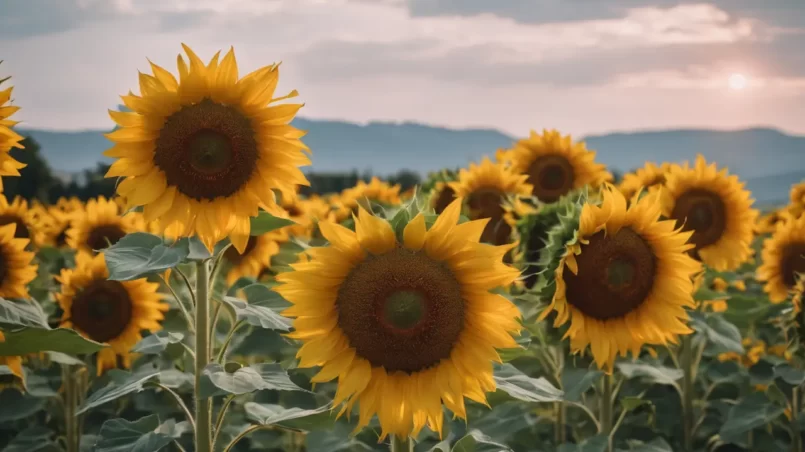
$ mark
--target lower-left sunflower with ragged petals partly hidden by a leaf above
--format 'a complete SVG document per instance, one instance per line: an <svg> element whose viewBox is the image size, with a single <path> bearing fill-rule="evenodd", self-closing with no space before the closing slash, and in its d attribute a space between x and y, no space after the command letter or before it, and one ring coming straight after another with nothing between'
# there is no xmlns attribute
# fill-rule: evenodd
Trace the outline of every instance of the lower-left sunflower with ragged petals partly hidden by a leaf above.
<svg viewBox="0 0 805 452"><path fill-rule="evenodd" d="M84 337L109 344L98 352L98 375L117 365L121 357L130 365L129 350L142 339L141 330L162 328L168 305L157 292L159 284L144 278L110 281L103 253L95 256L79 251L74 269L63 269L56 279L61 290L56 294L64 314L61 326L73 328Z"/></svg>

